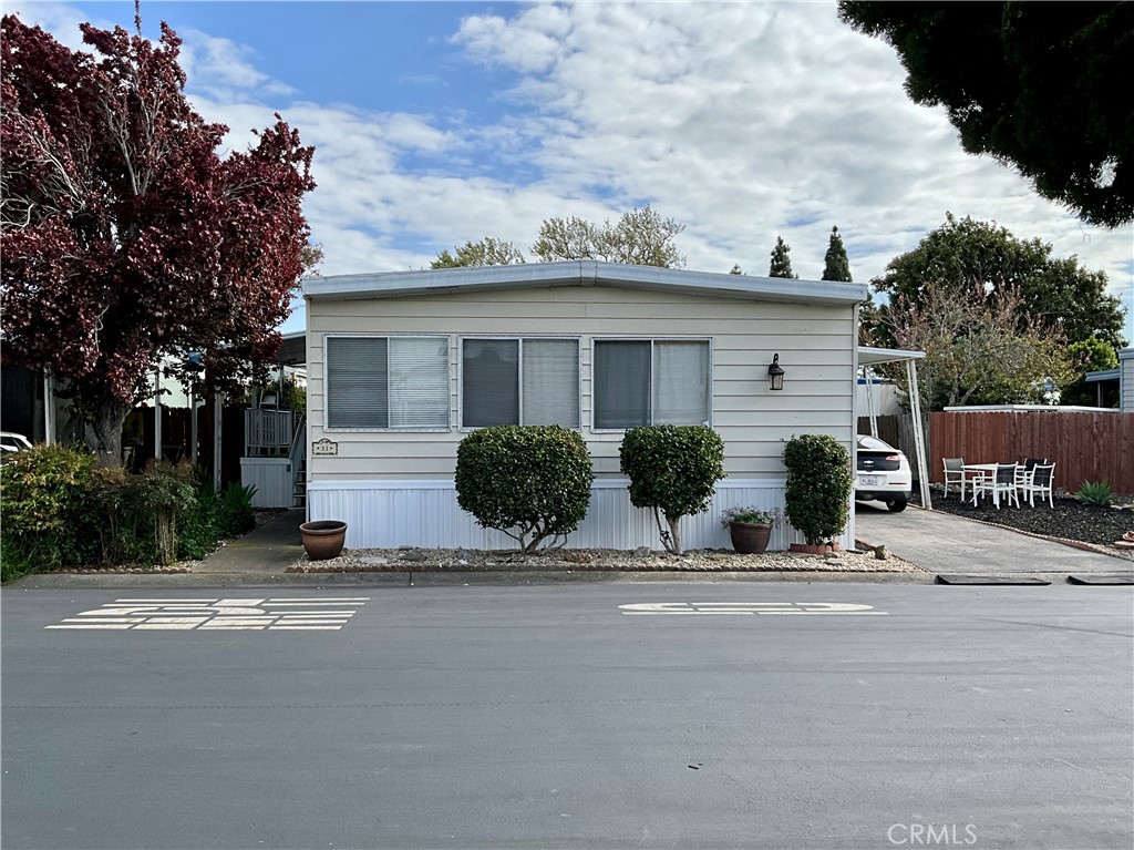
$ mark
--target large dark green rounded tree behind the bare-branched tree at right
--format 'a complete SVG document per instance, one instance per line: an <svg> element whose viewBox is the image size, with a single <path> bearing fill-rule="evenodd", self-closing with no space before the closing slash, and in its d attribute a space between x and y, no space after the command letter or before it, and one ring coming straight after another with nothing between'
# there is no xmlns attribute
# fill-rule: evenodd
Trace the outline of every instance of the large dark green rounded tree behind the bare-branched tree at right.
<svg viewBox="0 0 1134 850"><path fill-rule="evenodd" d="M1068 343L1094 337L1115 347L1125 345L1125 310L1118 298L1107 295L1106 272L1088 271L1075 256L1052 258L1050 244L1016 238L1004 227L946 213L941 227L891 260L871 285L892 304L897 296L915 303L928 283L953 291L958 298L967 298L978 286L988 292L1015 289L1021 328L1033 321L1059 330ZM885 314L889 308L880 309ZM892 342L880 336L880 342Z"/></svg>

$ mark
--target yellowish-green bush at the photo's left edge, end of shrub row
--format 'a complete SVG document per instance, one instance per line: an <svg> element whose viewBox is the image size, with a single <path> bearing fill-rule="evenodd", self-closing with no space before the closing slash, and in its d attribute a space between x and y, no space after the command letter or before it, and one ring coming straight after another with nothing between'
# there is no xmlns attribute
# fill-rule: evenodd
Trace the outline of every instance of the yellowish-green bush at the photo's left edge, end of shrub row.
<svg viewBox="0 0 1134 850"><path fill-rule="evenodd" d="M84 511L92 455L35 446L0 466L0 575L82 563L98 538Z"/></svg>

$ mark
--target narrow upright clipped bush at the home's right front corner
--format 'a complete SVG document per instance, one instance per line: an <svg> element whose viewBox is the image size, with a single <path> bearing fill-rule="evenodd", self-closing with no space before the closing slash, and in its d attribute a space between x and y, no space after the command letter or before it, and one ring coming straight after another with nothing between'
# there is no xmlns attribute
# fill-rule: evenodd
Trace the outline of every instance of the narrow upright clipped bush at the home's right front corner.
<svg viewBox="0 0 1134 850"><path fill-rule="evenodd" d="M805 434L784 447L788 521L811 545L831 542L850 517L850 455L833 437Z"/></svg>

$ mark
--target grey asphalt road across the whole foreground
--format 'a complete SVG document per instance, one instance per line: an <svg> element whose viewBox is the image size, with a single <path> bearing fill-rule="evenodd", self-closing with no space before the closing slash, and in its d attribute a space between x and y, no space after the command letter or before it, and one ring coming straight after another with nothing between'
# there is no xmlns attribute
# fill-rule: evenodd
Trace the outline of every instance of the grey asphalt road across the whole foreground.
<svg viewBox="0 0 1134 850"><path fill-rule="evenodd" d="M1134 845L1129 587L348 590L5 591L5 850Z"/></svg>

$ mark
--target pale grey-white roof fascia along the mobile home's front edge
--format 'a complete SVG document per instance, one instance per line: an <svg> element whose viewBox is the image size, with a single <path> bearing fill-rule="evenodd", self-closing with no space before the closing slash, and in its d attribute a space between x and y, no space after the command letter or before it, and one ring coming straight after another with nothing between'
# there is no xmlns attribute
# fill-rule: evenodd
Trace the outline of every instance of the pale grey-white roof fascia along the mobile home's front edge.
<svg viewBox="0 0 1134 850"><path fill-rule="evenodd" d="M390 298L549 286L613 286L746 301L848 306L866 300L864 284L722 275L594 260L308 278L304 280L303 295L308 301Z"/></svg>

